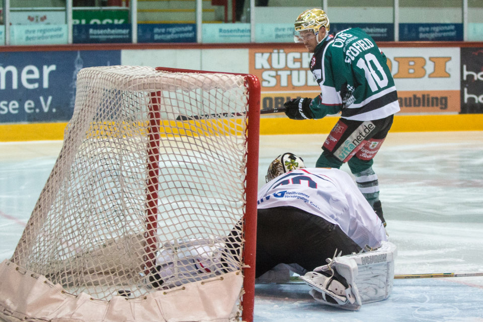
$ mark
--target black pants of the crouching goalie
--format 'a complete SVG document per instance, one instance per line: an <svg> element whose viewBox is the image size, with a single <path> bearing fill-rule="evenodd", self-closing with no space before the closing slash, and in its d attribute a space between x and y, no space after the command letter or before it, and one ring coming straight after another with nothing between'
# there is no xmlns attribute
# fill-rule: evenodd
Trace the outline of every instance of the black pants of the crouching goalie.
<svg viewBox="0 0 483 322"><path fill-rule="evenodd" d="M239 242L233 232L228 239ZM361 250L338 225L322 217L295 207L258 209L256 277L280 263L312 271L327 264L336 249L342 255Z"/></svg>

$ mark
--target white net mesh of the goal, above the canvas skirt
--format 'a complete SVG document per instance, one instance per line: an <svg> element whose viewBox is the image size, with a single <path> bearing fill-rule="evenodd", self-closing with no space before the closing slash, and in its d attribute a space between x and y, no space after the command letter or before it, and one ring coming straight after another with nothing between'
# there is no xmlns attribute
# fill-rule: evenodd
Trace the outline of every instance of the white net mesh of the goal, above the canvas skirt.
<svg viewBox="0 0 483 322"><path fill-rule="evenodd" d="M247 97L240 75L81 70L12 262L103 300L240 270Z"/></svg>

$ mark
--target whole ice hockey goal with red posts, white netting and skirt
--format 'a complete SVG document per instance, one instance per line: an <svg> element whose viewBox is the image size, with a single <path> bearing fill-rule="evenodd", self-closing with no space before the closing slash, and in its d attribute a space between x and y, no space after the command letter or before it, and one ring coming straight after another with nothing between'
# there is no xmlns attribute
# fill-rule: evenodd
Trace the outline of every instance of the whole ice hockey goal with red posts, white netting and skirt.
<svg viewBox="0 0 483 322"><path fill-rule="evenodd" d="M0 266L0 317L251 320L259 115L253 75L79 71L60 154Z"/></svg>

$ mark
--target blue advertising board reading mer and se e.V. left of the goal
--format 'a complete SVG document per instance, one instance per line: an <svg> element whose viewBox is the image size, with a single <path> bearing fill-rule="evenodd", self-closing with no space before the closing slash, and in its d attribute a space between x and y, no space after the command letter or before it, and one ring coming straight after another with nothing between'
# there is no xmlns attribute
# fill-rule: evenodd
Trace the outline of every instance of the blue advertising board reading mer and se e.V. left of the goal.
<svg viewBox="0 0 483 322"><path fill-rule="evenodd" d="M68 121L77 72L118 65L120 51L0 52L0 124Z"/></svg>

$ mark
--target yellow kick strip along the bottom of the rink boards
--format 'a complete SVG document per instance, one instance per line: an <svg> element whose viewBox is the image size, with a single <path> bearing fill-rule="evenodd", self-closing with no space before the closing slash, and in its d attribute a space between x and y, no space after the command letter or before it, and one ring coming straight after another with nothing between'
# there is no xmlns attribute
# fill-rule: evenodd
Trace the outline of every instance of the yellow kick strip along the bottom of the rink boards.
<svg viewBox="0 0 483 322"><path fill-rule="evenodd" d="M262 117L260 134L329 133L338 117L294 121L281 117ZM0 141L62 140L67 123L29 123L0 125ZM483 131L483 114L396 115L391 132Z"/></svg>

